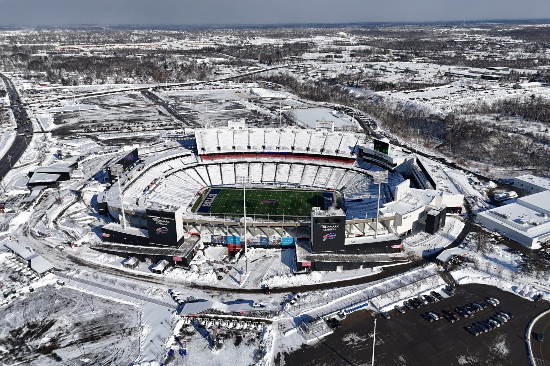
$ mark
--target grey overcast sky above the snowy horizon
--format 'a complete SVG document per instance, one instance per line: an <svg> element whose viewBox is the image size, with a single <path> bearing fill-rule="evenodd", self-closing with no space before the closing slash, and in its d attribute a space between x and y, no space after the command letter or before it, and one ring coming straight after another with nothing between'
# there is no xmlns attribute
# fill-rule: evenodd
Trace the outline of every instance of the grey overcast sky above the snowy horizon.
<svg viewBox="0 0 550 366"><path fill-rule="evenodd" d="M0 26L550 18L550 0L0 0Z"/></svg>

